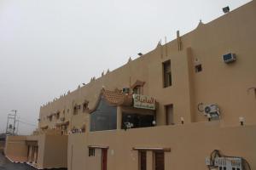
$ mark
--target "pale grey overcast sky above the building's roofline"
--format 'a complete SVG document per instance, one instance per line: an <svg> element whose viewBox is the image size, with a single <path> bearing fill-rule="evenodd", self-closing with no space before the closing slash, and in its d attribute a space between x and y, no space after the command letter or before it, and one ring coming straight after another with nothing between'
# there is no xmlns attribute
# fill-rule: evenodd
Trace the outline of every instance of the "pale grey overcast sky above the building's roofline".
<svg viewBox="0 0 256 170"><path fill-rule="evenodd" d="M0 133L11 110L37 124L40 105L247 2L0 0Z"/></svg>

